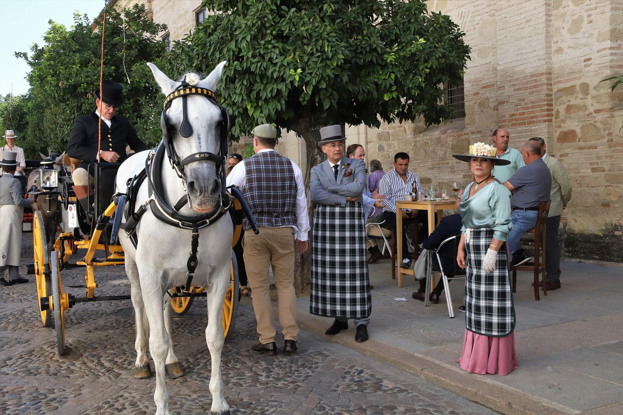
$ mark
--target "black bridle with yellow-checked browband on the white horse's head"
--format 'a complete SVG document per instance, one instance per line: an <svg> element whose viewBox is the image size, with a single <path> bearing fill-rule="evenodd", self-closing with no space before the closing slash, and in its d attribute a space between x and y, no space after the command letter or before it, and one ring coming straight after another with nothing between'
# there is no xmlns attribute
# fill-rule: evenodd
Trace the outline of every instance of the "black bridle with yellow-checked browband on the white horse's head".
<svg viewBox="0 0 623 415"><path fill-rule="evenodd" d="M219 107L221 110L222 121L219 122L219 130L221 131L220 135L220 147L219 154L215 155L214 153L210 153L209 151L201 151L199 153L193 153L189 156L186 156L183 160L179 160L179 156L177 151L175 150L175 146L173 144L173 137L171 137L169 129L171 125L167 122L166 111L171 107L171 103L174 99L181 97L182 98L182 123L179 125L179 135L183 137L189 137L193 135L193 126L188 121L188 113L187 113L187 104L186 98L188 95L203 95L206 97L211 103ZM160 127L162 128L162 138L164 141L164 146L166 148L166 155L169 158L169 162L171 166L173 166L178 177L184 181L184 187L186 186L186 178L184 177L184 166L188 165L188 163L193 163L193 161L214 161L216 163L217 171L219 172L219 177L221 178L221 189L226 188L225 182L225 160L227 157L227 135L229 134L229 129L231 128L231 122L229 118L229 112L226 107L223 107L218 102L216 102L216 95L214 92L207 88L196 87L193 85L189 85L186 82L186 77L179 84L177 88L169 95L167 95L164 100L164 109L162 110L162 114L160 116Z"/></svg>

